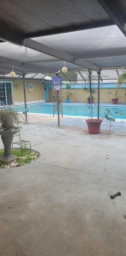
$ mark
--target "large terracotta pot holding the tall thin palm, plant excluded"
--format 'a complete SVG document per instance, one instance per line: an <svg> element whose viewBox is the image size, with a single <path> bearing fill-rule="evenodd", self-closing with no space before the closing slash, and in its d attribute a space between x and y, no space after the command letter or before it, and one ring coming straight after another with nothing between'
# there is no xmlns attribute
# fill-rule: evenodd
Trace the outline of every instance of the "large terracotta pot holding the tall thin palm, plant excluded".
<svg viewBox="0 0 126 256"><path fill-rule="evenodd" d="M102 121L103 121L102 119L88 119L88 120L86 120L86 123L87 123L87 126L88 126L88 132L91 133L91 134L99 133Z"/></svg>

